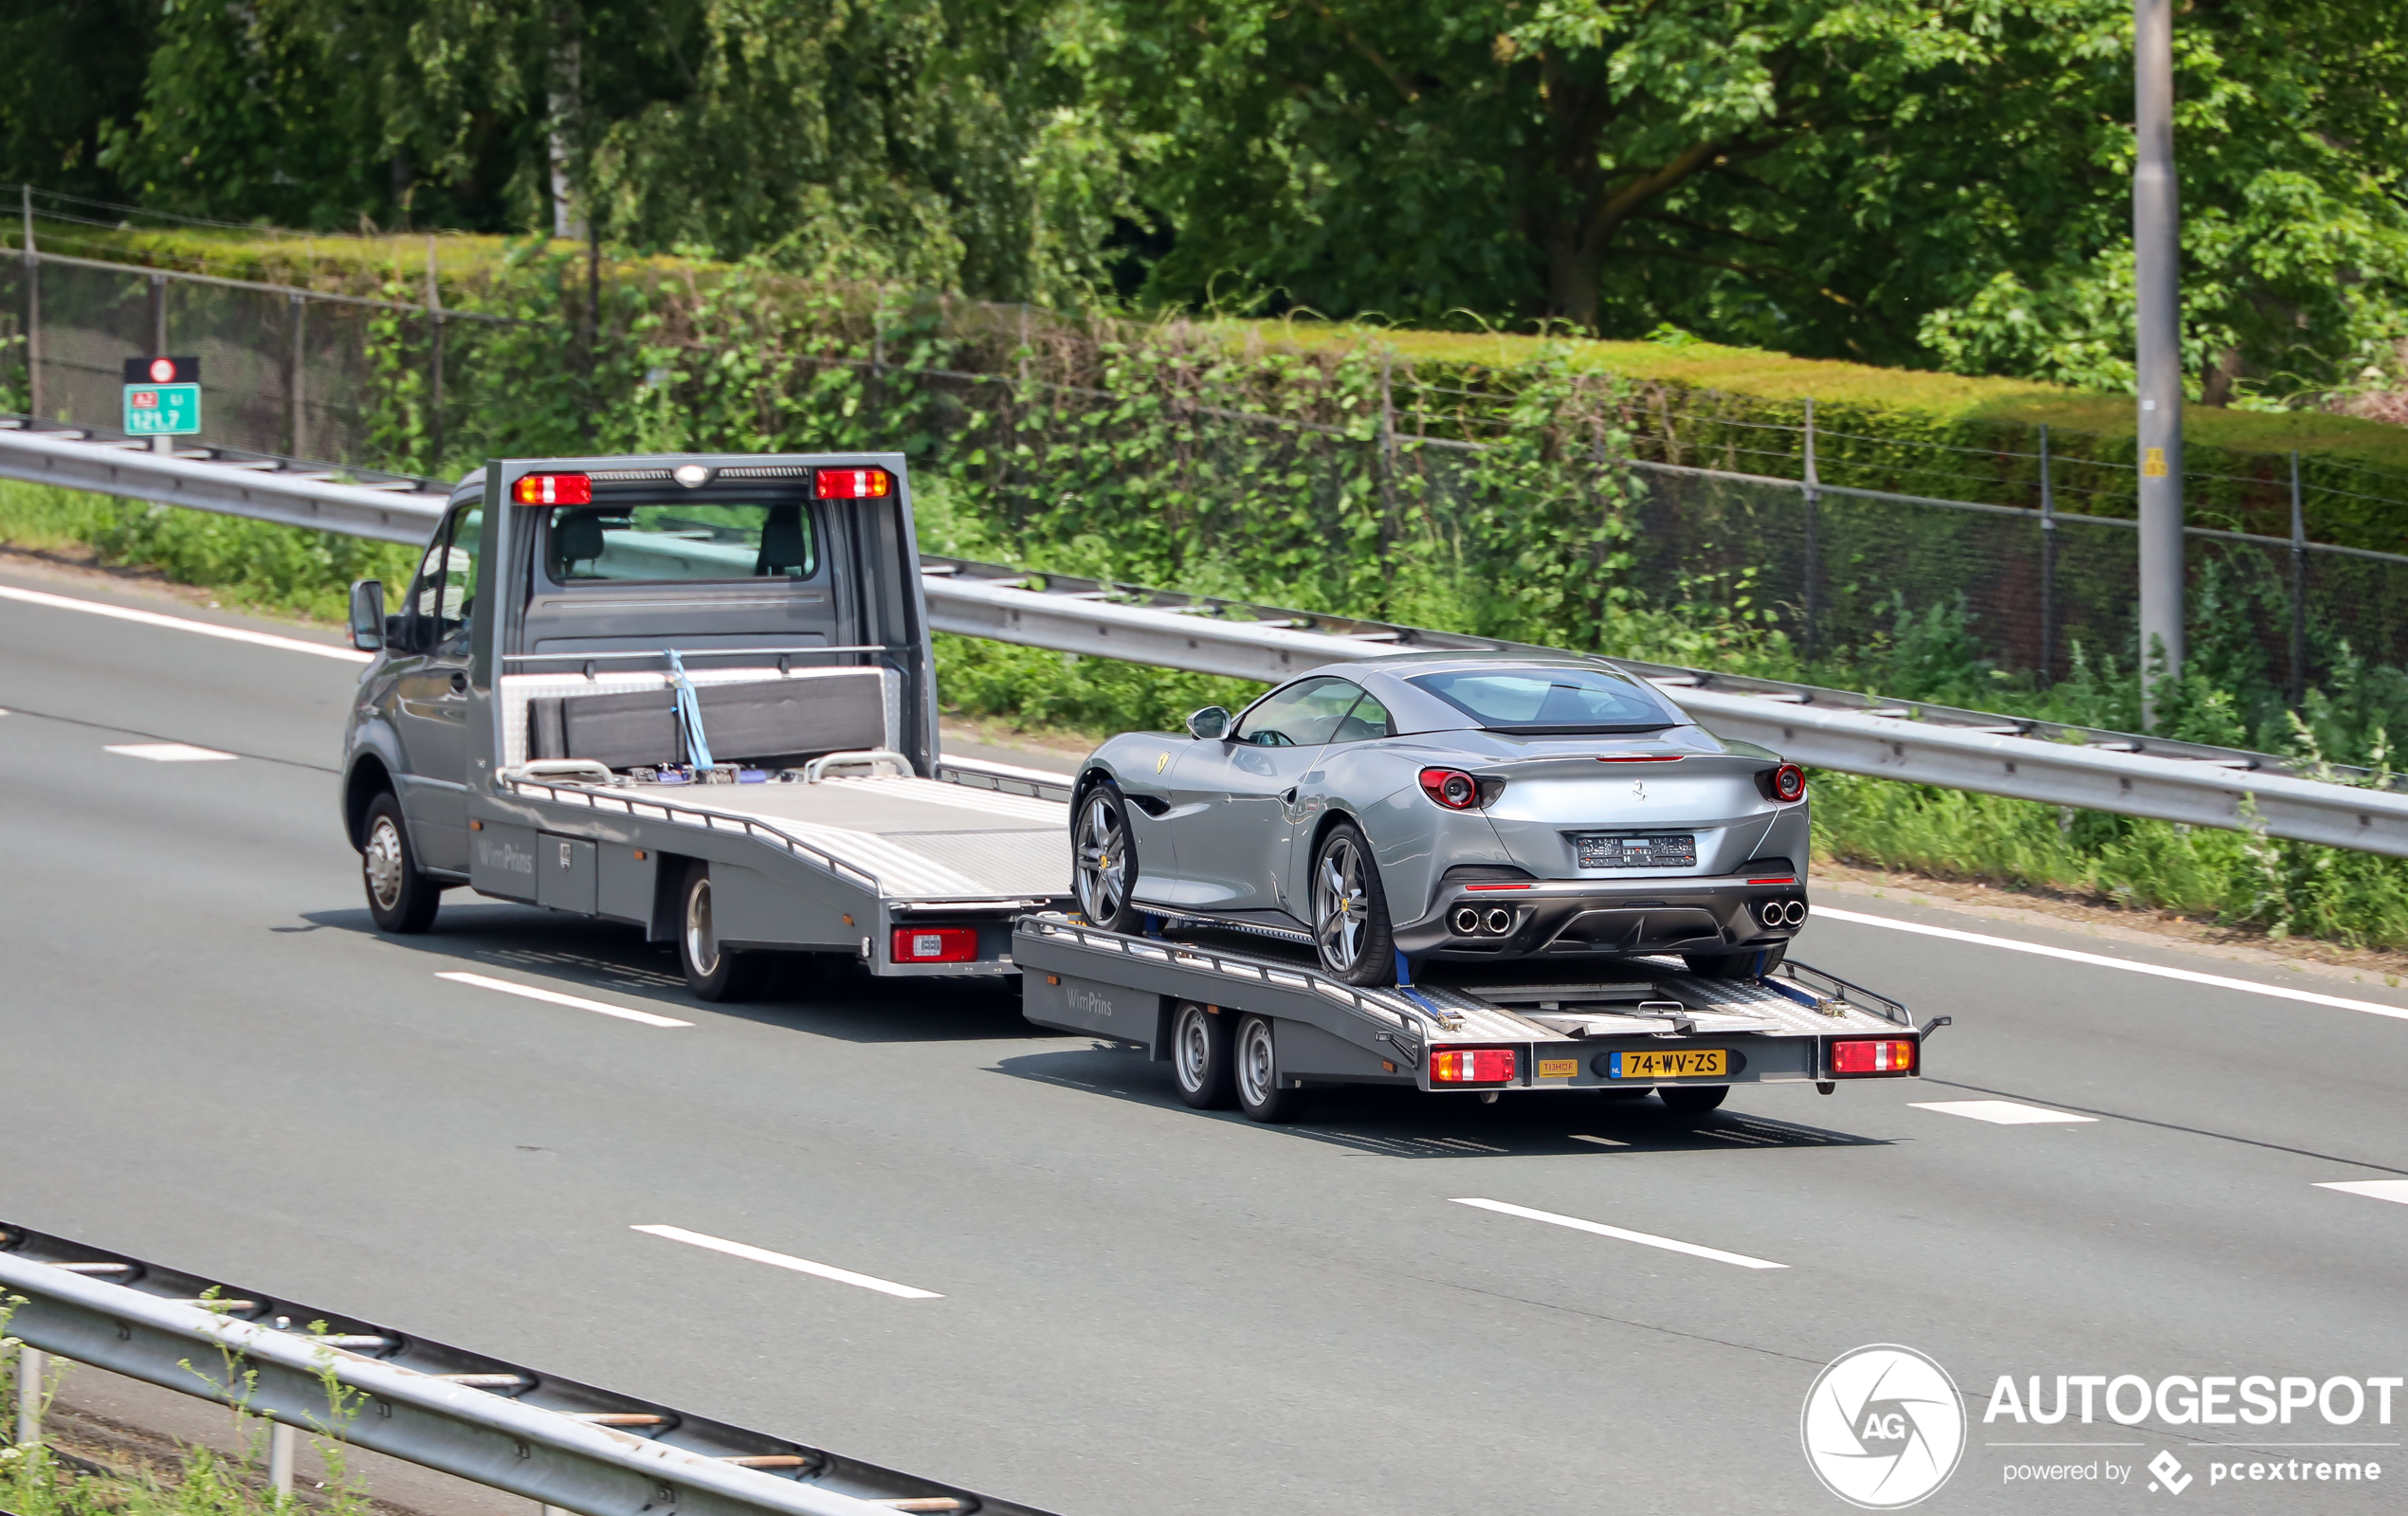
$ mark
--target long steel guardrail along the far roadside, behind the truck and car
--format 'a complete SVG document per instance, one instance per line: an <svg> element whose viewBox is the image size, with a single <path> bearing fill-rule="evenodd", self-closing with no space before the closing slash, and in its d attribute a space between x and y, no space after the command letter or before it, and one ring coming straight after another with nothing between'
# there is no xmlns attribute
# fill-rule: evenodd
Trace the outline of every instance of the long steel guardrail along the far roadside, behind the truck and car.
<svg viewBox="0 0 2408 1516"><path fill-rule="evenodd" d="M217 448L152 452L132 438L26 416L0 419L0 476L407 544L426 539L445 498L441 481L407 474ZM937 630L1235 679L1281 681L1317 664L1406 647L1556 652L966 558L922 556L922 587ZM1714 732L1813 768L2408 857L2408 794L2391 775L1712 669L1616 662Z"/></svg>

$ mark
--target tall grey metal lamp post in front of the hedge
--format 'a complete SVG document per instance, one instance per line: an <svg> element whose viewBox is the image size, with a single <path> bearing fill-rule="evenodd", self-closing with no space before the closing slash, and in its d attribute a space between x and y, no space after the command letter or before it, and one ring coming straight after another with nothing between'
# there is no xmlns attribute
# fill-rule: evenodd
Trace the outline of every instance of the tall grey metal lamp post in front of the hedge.
<svg viewBox="0 0 2408 1516"><path fill-rule="evenodd" d="M2148 671L2182 674L2182 209L2174 195L2174 5L2133 0L2131 250L2141 390L2141 722Z"/></svg>

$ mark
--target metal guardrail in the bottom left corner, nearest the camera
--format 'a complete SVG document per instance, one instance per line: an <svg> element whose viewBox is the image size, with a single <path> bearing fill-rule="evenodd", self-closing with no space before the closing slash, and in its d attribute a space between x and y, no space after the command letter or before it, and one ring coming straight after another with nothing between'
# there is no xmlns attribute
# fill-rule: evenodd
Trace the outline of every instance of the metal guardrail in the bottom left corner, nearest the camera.
<svg viewBox="0 0 2408 1516"><path fill-rule="evenodd" d="M1043 1516L26 1227L0 1227L0 1295L39 1352L578 1516Z"/></svg>

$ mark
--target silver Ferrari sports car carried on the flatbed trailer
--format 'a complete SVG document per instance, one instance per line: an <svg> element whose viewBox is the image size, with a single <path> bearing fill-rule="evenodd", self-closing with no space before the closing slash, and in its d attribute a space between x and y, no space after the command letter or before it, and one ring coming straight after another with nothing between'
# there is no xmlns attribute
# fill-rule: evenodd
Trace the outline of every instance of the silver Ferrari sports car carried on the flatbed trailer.
<svg viewBox="0 0 2408 1516"><path fill-rule="evenodd" d="M1806 775L1604 659L1329 664L1112 736L1069 828L1098 926L1279 936L1348 984L1433 958L1760 975L1806 919Z"/></svg>

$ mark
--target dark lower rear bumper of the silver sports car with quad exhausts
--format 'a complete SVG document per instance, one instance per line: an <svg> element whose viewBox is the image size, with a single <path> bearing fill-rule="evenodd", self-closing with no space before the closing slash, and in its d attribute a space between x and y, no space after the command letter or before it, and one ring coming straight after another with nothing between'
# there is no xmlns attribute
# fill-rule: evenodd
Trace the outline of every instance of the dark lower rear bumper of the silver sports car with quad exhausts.
<svg viewBox="0 0 2408 1516"><path fill-rule="evenodd" d="M1794 914L1787 907L1804 902L1804 881L1748 883L1746 876L1452 886L1440 890L1438 910L1428 917L1397 926L1397 948L1411 958L1623 958L1772 948L1796 934L1796 922L1767 922L1765 907L1784 907L1780 914L1787 917ZM1462 919L1466 910L1479 917L1471 931Z"/></svg>

